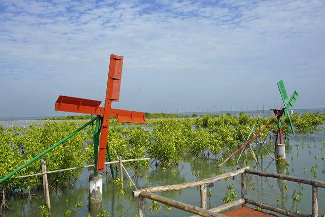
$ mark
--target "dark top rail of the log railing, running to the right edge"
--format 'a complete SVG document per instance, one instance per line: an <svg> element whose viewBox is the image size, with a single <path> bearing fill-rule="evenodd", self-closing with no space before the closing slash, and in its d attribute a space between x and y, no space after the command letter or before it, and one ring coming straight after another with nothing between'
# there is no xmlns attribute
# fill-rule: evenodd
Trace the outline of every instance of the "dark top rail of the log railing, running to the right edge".
<svg viewBox="0 0 325 217"><path fill-rule="evenodd" d="M325 182L316 181L316 180L304 179L304 178L299 178L299 177L294 177L294 176L287 176L287 175L271 173L271 172L256 171L256 170L252 170L252 169L245 169L245 173L254 174L257 176L264 176L264 177L288 180L288 181L296 182L296 183L315 185L317 187L325 188Z"/></svg>

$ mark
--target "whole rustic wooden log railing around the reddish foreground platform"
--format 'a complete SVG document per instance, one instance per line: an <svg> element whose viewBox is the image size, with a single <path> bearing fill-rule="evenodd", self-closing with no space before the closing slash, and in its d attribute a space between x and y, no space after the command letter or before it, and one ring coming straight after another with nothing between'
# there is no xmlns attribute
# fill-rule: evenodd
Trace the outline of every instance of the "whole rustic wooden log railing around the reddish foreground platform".
<svg viewBox="0 0 325 217"><path fill-rule="evenodd" d="M229 203L226 203L222 206L218 206L215 208L212 208L210 210L206 210L206 185L218 182L220 180L223 180L225 178L235 177L237 175L241 174L241 199L235 200ZM246 180L247 180L247 174L253 174L257 176L263 176L263 177L272 177L276 179L281 180L287 180L291 182L296 183L302 183L302 184L309 184L312 186L312 200L311 200L311 215L307 214L299 214L299 213L292 213L290 211L282 210L261 202L257 202L254 200L247 199L247 191L246 191ZM153 193L157 192L166 192L166 191L177 191L177 190L183 190L190 187L196 187L200 186L200 195L201 195L201 207L189 205L180 201L171 200L169 198L165 198L159 195L155 195ZM139 198L139 217L145 217L145 206L144 206L144 199L148 198L150 200L155 200L157 202L161 202L163 204L169 205L171 207L187 211L189 213L195 214L195 216L192 217L225 217L222 214L219 214L219 212L222 212L226 209L229 209L234 206L242 205L246 206L246 203L258 206L262 209L270 210L285 216L289 217L318 217L318 187L325 188L325 183L315 180L309 180L304 178L297 178L293 176L287 176L277 173L270 173L270 172L261 172L261 171L255 171L251 170L248 167L239 168L236 171L233 172L227 172L223 173L219 176L199 180L199 181L192 181L187 182L183 184L172 184L172 185L164 185L164 186L156 186L156 187L149 187L144 189L135 190L132 192L133 197Z"/></svg>

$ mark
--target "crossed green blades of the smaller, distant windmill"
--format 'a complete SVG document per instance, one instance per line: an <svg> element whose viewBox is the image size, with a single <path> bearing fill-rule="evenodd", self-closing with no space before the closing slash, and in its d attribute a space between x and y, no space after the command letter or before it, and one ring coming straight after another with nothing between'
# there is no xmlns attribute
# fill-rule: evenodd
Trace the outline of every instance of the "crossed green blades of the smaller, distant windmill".
<svg viewBox="0 0 325 217"><path fill-rule="evenodd" d="M281 98L283 100L283 103L285 105L285 109L284 109L284 112L277 124L277 128L280 128L281 125L282 125L282 122L284 121L284 118L286 117L286 115L288 116L289 118L289 123L290 123L290 127L291 127L291 132L293 135L295 135L295 132L294 132L294 128L293 128L293 124L292 124L292 121L291 121L291 117L290 117L290 114L288 112L290 106L293 107L296 103L296 100L298 99L298 93L296 91L293 91L293 94L288 102L288 104L286 104L286 101L288 99L288 95L287 95L287 91L286 91L286 88L284 87L284 83L283 81L279 81L277 83L277 86L279 87L279 90L280 90L280 94L281 94Z"/></svg>

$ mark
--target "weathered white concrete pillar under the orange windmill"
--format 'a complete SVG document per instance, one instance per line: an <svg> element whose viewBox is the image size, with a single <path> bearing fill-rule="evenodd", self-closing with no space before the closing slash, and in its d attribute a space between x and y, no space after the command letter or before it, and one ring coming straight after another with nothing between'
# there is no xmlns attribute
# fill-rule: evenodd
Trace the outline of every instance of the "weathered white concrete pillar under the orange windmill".
<svg viewBox="0 0 325 217"><path fill-rule="evenodd" d="M90 175L89 176L89 211L102 211L102 190L103 190L103 176Z"/></svg>

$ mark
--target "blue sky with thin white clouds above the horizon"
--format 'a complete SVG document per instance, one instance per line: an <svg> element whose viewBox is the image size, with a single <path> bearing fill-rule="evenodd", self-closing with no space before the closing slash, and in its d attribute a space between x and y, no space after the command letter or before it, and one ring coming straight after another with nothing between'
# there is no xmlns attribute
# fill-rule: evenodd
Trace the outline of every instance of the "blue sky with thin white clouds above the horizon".
<svg viewBox="0 0 325 217"><path fill-rule="evenodd" d="M325 108L324 0L1 0L0 117L63 116L59 95L142 112Z"/></svg>

